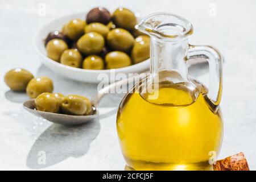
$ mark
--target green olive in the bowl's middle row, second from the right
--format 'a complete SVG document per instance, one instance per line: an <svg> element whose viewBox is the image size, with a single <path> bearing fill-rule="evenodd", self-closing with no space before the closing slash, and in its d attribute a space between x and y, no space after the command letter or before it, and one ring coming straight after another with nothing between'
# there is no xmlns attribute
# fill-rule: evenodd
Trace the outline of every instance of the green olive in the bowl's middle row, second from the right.
<svg viewBox="0 0 256 182"><path fill-rule="evenodd" d="M128 52L134 44L133 35L122 28L115 28L107 35L108 46L114 51Z"/></svg>

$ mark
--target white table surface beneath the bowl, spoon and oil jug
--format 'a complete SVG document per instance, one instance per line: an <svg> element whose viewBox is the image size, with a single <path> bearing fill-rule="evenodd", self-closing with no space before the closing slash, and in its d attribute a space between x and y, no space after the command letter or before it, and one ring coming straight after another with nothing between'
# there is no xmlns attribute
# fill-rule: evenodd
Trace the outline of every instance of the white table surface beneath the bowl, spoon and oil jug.
<svg viewBox="0 0 256 182"><path fill-rule="evenodd" d="M46 17L38 16L45 3ZM214 3L214 4L210 4ZM210 44L225 57L221 109L224 141L219 158L244 152L256 169L256 2L251 1L0 1L0 169L122 170L125 166L115 129L116 109L122 96L107 96L101 118L87 125L67 127L44 121L22 108L26 94L13 93L3 82L11 68L23 67L36 76L53 79L55 92L92 96L96 85L68 80L40 63L32 36L39 26L57 16L88 11L102 5L125 6L143 15L167 11L184 16L195 28L192 44ZM216 5L216 16L210 7ZM213 14L211 14L213 12ZM210 14L210 15L209 15ZM207 69L193 76L207 82ZM104 114L106 113L106 114ZM39 151L46 165L38 164Z"/></svg>

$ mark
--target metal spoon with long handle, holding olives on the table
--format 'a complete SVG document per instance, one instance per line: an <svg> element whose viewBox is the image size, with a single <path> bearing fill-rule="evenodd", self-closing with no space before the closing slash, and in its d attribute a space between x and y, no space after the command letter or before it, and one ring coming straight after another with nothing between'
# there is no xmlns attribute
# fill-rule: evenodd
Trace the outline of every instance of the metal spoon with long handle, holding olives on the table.
<svg viewBox="0 0 256 182"><path fill-rule="evenodd" d="M137 77L141 77L141 75L136 75L133 77L129 77L123 79L121 81L114 82L106 86L105 88L98 91L98 93L92 97L91 102L93 105L93 114L92 115L68 115L68 114L56 114L56 113L48 113L44 111L39 111L35 109L35 99L28 100L23 102L23 107L29 111L30 113L47 119L53 123L59 123L63 125L80 125L82 123L86 123L94 118L98 117L98 104L102 97L109 93L109 90L114 89L117 86L129 84L131 81L134 81Z"/></svg>

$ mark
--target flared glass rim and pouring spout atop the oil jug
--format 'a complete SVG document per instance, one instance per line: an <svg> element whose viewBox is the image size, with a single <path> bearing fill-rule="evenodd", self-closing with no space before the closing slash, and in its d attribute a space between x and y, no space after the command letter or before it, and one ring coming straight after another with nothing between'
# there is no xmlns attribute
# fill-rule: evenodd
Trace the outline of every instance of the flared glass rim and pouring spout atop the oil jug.
<svg viewBox="0 0 256 182"><path fill-rule="evenodd" d="M192 24L181 16L171 13L148 15L138 24L139 31L156 38L177 41L193 33Z"/></svg>

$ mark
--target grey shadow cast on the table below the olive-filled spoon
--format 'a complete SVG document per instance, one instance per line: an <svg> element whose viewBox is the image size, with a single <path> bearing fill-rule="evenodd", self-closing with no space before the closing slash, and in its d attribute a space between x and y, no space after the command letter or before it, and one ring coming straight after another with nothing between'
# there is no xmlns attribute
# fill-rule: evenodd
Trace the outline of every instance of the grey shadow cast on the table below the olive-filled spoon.
<svg viewBox="0 0 256 182"><path fill-rule="evenodd" d="M36 139L28 153L27 166L40 169L69 157L79 158L88 152L90 143L99 132L98 119L79 126L53 124Z"/></svg>

